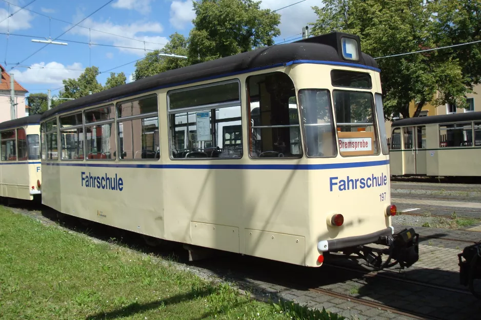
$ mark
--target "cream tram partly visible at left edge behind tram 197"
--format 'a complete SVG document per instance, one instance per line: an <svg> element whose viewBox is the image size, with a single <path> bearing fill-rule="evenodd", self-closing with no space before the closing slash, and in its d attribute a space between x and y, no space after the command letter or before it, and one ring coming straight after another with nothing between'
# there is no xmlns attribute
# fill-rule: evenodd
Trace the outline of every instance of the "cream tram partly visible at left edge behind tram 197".
<svg viewBox="0 0 481 320"><path fill-rule="evenodd" d="M41 195L40 115L0 123L0 196L33 200Z"/></svg>

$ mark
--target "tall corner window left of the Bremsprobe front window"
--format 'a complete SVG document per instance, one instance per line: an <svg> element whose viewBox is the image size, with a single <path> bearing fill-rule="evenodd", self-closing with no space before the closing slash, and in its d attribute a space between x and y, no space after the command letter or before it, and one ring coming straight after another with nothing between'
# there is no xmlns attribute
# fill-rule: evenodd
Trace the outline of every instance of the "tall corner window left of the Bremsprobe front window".
<svg viewBox="0 0 481 320"><path fill-rule="evenodd" d="M336 133L328 90L304 89L299 91L306 154L308 157L327 158L337 155Z"/></svg>

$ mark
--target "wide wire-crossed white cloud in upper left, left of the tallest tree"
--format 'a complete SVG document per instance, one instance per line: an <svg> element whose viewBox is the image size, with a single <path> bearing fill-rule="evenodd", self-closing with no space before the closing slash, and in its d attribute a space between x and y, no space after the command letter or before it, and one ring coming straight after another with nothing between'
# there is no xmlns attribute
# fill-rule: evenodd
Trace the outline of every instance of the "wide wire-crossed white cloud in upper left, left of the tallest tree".
<svg viewBox="0 0 481 320"><path fill-rule="evenodd" d="M78 21L82 18L75 17L74 20ZM156 36L156 35L144 35L144 33L161 33L164 31L164 28L161 24L157 22L146 22L146 23L133 23L130 25L115 25L110 21L106 22L95 22L91 18L86 19L82 24L84 27L88 27L95 30L105 31L111 34L97 32L94 30L90 31L91 41L93 43L99 44L111 44L114 46L120 47L128 47L128 48L118 48L118 50L122 52L132 53L138 56L143 56L146 51L144 51L144 42L145 42L145 49L148 50L155 50L155 49L162 49L164 45L169 41L166 37L163 36ZM89 37L89 29L75 27L69 31L71 34L83 35L88 39ZM132 39L127 39L119 36L115 36L112 34L122 35L125 37L129 37ZM137 39L137 40L133 40ZM153 43L149 43L153 42ZM138 48L138 49L129 49L129 48Z"/></svg>

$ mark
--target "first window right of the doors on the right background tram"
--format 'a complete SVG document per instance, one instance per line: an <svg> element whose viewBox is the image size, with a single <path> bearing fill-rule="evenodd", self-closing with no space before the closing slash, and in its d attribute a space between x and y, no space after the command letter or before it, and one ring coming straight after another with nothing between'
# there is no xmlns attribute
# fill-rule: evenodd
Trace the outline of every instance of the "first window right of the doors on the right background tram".
<svg viewBox="0 0 481 320"><path fill-rule="evenodd" d="M473 145L473 130L470 122L439 124L439 146L461 147Z"/></svg>

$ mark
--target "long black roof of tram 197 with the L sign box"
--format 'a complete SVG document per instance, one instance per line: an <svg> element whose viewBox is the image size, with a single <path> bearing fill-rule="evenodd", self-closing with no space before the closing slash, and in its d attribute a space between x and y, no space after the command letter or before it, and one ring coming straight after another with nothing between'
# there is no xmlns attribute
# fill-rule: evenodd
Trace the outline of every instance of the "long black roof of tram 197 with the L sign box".
<svg viewBox="0 0 481 320"><path fill-rule="evenodd" d="M357 41L359 52L358 61L350 61L343 58L341 37L352 38ZM64 102L56 108L46 111L42 119L58 113L84 108L89 105L107 103L115 99L141 94L146 91L273 68L293 61L326 63L379 71L377 62L371 56L361 52L360 39L358 36L333 32L299 40L290 44L259 48L229 57L169 70L122 86Z"/></svg>

